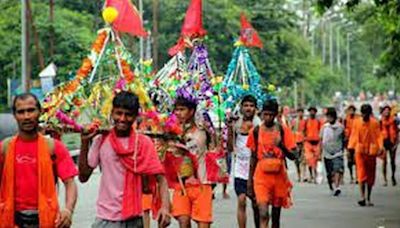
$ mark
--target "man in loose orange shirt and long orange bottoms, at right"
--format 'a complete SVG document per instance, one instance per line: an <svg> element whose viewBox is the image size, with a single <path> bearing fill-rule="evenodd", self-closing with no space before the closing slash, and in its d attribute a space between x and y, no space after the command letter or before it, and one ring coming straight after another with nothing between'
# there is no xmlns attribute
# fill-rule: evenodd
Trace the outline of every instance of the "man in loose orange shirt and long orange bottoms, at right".
<svg viewBox="0 0 400 228"><path fill-rule="evenodd" d="M372 188L375 183L376 157L383 153L383 139L379 122L372 116L369 104L361 106L362 119L354 122L349 148L355 150L357 179L360 186L360 206L373 206ZM367 194L365 192L367 191Z"/></svg>

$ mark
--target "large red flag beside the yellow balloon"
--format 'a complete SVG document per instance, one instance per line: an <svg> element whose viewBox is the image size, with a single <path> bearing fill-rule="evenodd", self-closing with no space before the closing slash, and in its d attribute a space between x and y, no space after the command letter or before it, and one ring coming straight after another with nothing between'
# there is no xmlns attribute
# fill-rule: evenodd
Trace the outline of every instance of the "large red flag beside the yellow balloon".
<svg viewBox="0 0 400 228"><path fill-rule="evenodd" d="M130 0L106 0L106 7L114 7L118 11L118 17L113 23L114 30L132 36L147 36L140 14Z"/></svg>

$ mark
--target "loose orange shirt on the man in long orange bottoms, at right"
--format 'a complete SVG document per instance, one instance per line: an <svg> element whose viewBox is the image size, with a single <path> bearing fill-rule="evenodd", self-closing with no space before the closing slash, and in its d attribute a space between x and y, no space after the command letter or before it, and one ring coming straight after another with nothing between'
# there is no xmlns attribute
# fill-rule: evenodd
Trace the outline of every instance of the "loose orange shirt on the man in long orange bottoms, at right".
<svg viewBox="0 0 400 228"><path fill-rule="evenodd" d="M379 149L383 148L379 122L372 117L368 122L364 122L362 118L356 119L350 135L349 148L359 153L363 152L360 151L361 148L370 148L371 145L376 145Z"/></svg>

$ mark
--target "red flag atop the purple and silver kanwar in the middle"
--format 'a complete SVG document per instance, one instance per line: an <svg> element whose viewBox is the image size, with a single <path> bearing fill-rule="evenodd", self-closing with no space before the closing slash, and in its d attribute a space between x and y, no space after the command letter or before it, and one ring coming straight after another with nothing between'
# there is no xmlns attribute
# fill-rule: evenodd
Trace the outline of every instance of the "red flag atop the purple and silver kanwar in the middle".
<svg viewBox="0 0 400 228"><path fill-rule="evenodd" d="M186 11L181 34L184 36L204 36L207 31L203 28L202 1L191 0Z"/></svg>

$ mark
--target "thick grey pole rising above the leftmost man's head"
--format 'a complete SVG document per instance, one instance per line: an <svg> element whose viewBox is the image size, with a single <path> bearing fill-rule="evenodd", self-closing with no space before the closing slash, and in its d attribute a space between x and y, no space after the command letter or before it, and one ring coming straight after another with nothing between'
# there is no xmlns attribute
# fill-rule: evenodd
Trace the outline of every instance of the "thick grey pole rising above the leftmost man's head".
<svg viewBox="0 0 400 228"><path fill-rule="evenodd" d="M21 80L22 92L29 89L29 26L25 0L21 0Z"/></svg>

